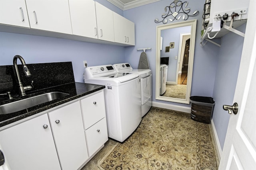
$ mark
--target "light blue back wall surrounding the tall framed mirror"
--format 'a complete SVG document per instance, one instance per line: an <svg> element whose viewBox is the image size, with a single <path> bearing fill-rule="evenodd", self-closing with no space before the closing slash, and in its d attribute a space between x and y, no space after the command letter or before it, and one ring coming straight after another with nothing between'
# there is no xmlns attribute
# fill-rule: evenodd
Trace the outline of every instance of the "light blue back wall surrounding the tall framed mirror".
<svg viewBox="0 0 256 170"><path fill-rule="evenodd" d="M194 69L192 78L192 90L191 96L212 96L214 79L218 61L219 48L216 45L208 44L207 47L200 46L200 31L202 23L202 11L204 8L205 0L188 0L188 8L191 9L191 13L195 10L199 11L199 15L196 17L189 17L188 20L197 19L196 28L196 45L194 55ZM144 6L132 8L124 11L124 17L135 23L135 47L128 47L125 49L126 62L130 63L133 68L138 68L138 62L140 59L140 53L137 51L140 48L152 48L147 50L148 62L150 69L152 70L152 100L154 102L174 104L179 106L189 106L187 104L178 104L174 102L166 102L156 100L155 95L155 82L156 82L156 26L163 25L163 23L155 23L154 20L161 19L164 8L169 6L170 0L160 0ZM179 22L175 20L172 22ZM171 23L171 21L168 21ZM164 49L164 47L163 47Z"/></svg>

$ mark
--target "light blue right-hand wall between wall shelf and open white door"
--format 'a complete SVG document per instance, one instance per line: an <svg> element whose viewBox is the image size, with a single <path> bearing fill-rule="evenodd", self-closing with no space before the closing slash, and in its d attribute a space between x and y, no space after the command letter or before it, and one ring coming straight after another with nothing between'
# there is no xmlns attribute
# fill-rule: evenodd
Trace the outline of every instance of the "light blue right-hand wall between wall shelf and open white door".
<svg viewBox="0 0 256 170"><path fill-rule="evenodd" d="M237 28L245 32L246 24ZM213 121L223 149L230 115L222 109L223 105L232 105L244 38L235 33L222 37L218 66L213 90L215 107Z"/></svg>

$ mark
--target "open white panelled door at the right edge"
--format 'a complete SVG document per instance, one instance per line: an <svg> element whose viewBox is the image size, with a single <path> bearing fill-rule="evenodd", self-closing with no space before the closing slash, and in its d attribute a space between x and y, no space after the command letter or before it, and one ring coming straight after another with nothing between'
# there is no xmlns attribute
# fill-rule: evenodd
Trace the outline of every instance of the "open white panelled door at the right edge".
<svg viewBox="0 0 256 170"><path fill-rule="evenodd" d="M256 169L256 111L254 107L256 106L255 8L256 1L251 0L234 95L234 102L238 103L238 113L230 115L220 160L220 170Z"/></svg>

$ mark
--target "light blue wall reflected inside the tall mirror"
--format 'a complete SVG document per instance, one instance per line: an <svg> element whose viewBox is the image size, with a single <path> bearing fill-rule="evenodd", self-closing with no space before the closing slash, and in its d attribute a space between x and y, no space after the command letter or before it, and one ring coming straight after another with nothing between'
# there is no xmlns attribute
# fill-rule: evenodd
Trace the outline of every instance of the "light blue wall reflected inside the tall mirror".
<svg viewBox="0 0 256 170"><path fill-rule="evenodd" d="M176 71L178 59L175 56L179 55L180 34L190 33L191 26L164 29L161 31L163 37L163 49L160 53L161 57L169 57L169 65L167 72L167 81L176 81ZM170 48L169 52L165 52L165 47L170 46L170 42L174 42L174 48Z"/></svg>

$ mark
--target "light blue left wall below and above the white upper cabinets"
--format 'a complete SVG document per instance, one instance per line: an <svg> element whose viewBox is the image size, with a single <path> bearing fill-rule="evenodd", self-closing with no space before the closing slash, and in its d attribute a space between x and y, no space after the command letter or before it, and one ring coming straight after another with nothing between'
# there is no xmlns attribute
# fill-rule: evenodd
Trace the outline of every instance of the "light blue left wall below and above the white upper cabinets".
<svg viewBox="0 0 256 170"><path fill-rule="evenodd" d="M107 0L96 1L123 15L121 9ZM27 64L71 61L76 82L83 82L83 61L87 61L88 66L124 63L124 49L115 45L0 32L0 65L12 65L14 55L21 55Z"/></svg>

